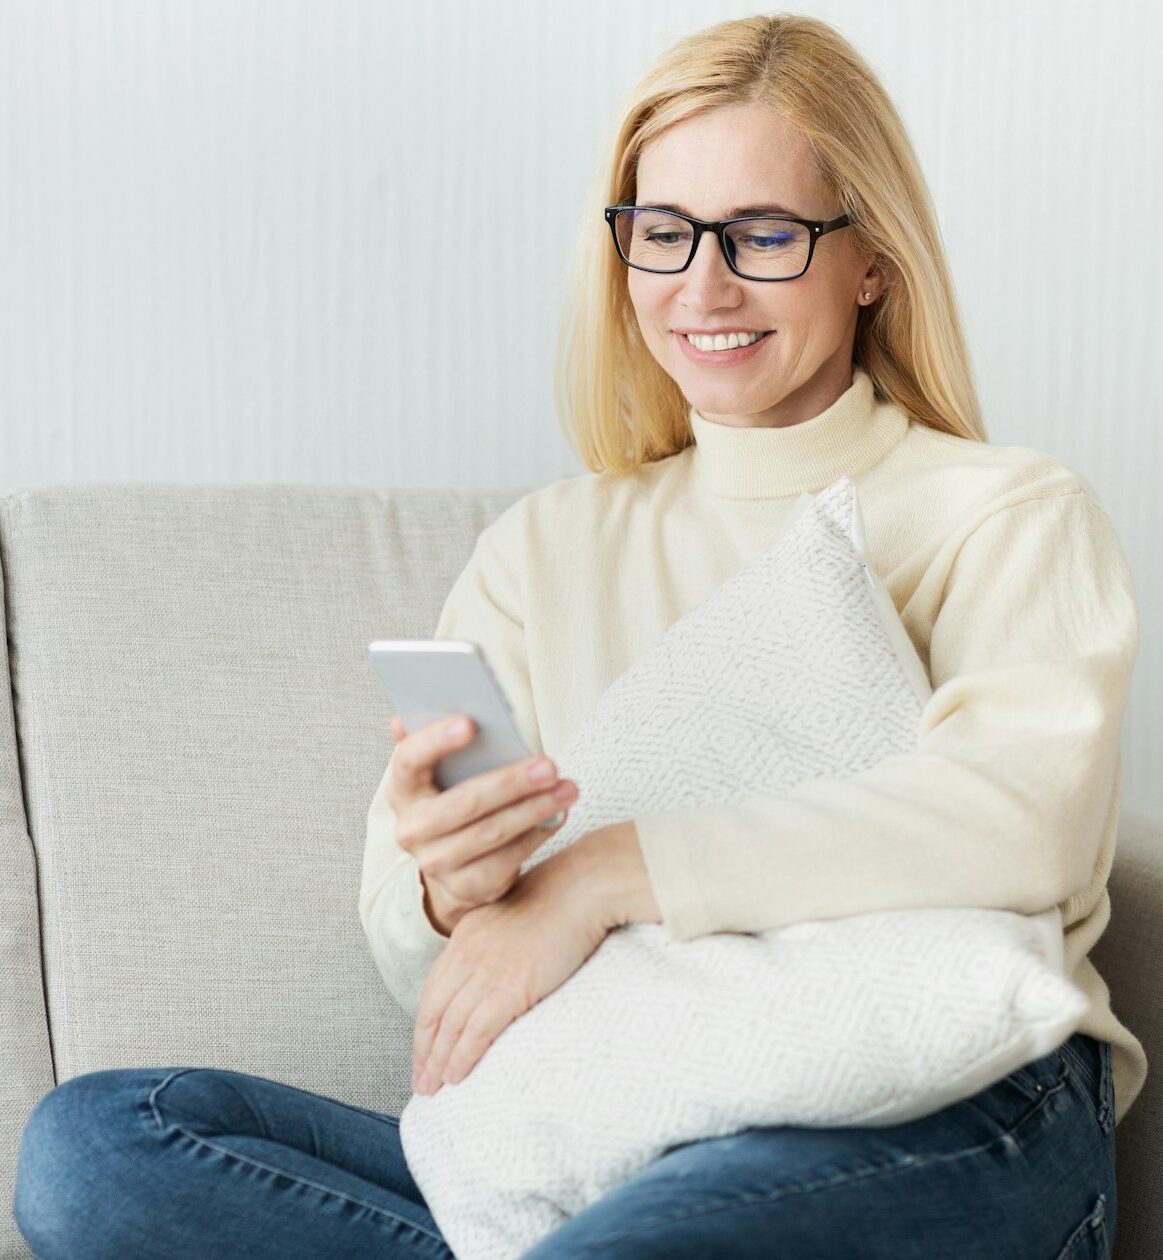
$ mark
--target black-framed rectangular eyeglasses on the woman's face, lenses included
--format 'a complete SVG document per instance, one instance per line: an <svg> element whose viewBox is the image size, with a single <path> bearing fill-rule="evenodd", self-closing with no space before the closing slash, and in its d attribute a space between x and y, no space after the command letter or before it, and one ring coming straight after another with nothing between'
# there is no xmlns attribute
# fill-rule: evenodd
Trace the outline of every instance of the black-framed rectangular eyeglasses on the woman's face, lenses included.
<svg viewBox="0 0 1163 1260"><path fill-rule="evenodd" d="M627 267L672 275L685 271L704 232L718 237L727 266L742 280L795 280L803 276L815 242L852 219L795 219L752 214L742 219L694 219L654 205L607 205L610 234Z"/></svg>

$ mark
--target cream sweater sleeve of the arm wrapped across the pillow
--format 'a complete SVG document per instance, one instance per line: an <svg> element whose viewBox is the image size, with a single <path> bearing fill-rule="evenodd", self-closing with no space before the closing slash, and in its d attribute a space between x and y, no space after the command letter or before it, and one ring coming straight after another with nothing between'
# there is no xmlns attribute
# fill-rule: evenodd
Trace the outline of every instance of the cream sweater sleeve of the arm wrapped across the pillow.
<svg viewBox="0 0 1163 1260"><path fill-rule="evenodd" d="M1139 643L1101 504L987 515L949 570L915 752L730 808L634 819L672 939L881 910L1038 914L1092 878Z"/></svg>

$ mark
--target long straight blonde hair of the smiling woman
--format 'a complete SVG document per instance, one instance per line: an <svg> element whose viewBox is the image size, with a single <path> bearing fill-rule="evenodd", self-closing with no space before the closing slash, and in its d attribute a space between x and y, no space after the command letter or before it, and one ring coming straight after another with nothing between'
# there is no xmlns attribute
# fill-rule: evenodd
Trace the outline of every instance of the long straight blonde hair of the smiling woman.
<svg viewBox="0 0 1163 1260"><path fill-rule="evenodd" d="M643 149L667 127L760 101L808 141L851 214L853 244L885 282L862 306L853 363L876 397L930 428L988 441L936 214L905 125L872 69L830 25L761 14L679 40L627 97L587 194L554 389L566 438L591 471L630 472L693 441L690 404L641 340L602 207L631 204Z"/></svg>

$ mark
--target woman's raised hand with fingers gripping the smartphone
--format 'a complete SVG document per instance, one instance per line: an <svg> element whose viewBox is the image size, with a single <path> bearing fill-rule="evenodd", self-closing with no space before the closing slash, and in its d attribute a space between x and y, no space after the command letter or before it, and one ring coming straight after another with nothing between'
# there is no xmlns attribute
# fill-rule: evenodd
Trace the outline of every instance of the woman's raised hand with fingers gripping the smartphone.
<svg viewBox="0 0 1163 1260"><path fill-rule="evenodd" d="M469 733L450 737L450 718L417 727L411 735L392 717L396 740L392 774L384 788L396 811L396 843L416 858L432 926L445 936L476 906L499 901L517 883L522 863L558 828L539 827L558 811L568 813L577 799L577 784L557 777L548 757L529 757L486 770L441 791L433 767L455 748L476 738L471 718ZM544 764L544 781L529 777L529 769ZM554 795L563 788L564 795Z"/></svg>

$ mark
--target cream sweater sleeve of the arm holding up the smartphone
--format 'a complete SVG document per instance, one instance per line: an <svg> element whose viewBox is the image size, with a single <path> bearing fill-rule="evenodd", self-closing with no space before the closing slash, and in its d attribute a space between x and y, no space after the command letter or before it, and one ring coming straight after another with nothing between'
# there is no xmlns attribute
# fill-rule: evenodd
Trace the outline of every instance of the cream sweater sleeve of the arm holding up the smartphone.
<svg viewBox="0 0 1163 1260"><path fill-rule="evenodd" d="M445 598L433 638L469 639L483 649L518 728L529 746L541 751L524 626L517 611L518 586L505 548L496 543L499 523L500 518L478 537ZM394 757L393 748L368 806L359 920L384 985L415 1017L425 978L449 937L425 912L416 858L396 843L396 811L384 795Z"/></svg>

